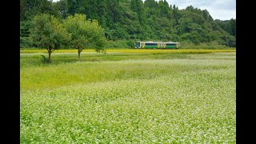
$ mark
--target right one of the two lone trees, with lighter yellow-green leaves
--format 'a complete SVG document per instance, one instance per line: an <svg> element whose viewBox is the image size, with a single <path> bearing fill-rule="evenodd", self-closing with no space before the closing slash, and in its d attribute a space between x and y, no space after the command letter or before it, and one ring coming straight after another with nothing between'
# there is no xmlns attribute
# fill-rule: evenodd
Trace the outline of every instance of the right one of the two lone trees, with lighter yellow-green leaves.
<svg viewBox="0 0 256 144"><path fill-rule="evenodd" d="M86 20L85 14L74 14L64 22L66 31L71 35L70 46L78 49L78 61L81 61L80 54L85 47L94 46L98 52L102 49L105 41L104 30L96 20Z"/></svg>

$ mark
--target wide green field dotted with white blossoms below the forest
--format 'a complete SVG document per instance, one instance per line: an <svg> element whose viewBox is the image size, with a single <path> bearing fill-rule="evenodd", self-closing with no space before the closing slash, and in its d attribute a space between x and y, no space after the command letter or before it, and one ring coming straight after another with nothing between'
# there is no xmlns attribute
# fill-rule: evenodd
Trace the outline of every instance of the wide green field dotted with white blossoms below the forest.
<svg viewBox="0 0 256 144"><path fill-rule="evenodd" d="M21 51L21 143L236 143L235 50L106 51Z"/></svg>

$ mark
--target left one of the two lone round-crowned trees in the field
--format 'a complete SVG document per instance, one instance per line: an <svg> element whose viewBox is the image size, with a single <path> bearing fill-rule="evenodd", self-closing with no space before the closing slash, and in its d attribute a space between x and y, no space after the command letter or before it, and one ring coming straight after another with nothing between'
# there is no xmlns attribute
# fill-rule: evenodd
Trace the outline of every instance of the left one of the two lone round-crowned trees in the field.
<svg viewBox="0 0 256 144"><path fill-rule="evenodd" d="M32 21L30 38L38 48L46 49L49 54L58 50L65 42L68 42L70 35L66 33L62 24L50 14L39 14Z"/></svg>

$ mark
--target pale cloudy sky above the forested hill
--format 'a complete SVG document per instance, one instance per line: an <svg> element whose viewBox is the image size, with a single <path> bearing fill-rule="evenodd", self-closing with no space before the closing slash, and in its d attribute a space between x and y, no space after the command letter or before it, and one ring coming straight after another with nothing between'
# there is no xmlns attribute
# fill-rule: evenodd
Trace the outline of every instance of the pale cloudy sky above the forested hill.
<svg viewBox="0 0 256 144"><path fill-rule="evenodd" d="M53 0L57 2L58 0ZM143 0L144 1L144 0ZM159 0L157 0L159 1ZM166 0L169 5L178 6L178 10L186 6L194 6L201 10L207 10L214 19L229 20L236 18L236 0Z"/></svg>

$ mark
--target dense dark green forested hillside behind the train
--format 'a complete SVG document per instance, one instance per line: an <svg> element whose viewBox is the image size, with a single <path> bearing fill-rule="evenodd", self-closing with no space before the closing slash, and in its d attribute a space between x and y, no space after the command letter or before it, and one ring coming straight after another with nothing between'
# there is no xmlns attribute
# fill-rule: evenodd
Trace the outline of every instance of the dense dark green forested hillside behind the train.
<svg viewBox="0 0 256 144"><path fill-rule="evenodd" d="M53 14L65 19L86 14L97 19L110 41L172 41L236 46L235 19L214 20L207 10L178 6L166 0L21 0L21 46L31 46L30 21L36 14Z"/></svg>

